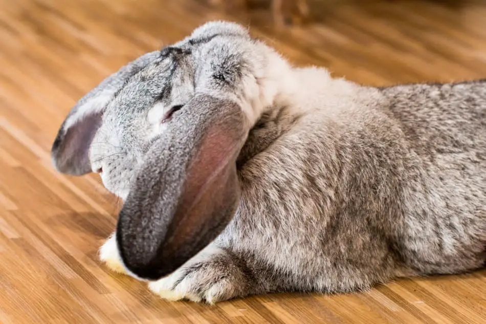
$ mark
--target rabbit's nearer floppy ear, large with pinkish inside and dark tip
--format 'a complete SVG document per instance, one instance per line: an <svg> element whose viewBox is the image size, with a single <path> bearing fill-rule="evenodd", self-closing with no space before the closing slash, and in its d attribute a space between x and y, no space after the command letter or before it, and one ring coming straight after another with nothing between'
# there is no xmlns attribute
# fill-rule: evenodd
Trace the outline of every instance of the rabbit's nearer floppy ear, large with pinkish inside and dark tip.
<svg viewBox="0 0 486 324"><path fill-rule="evenodd" d="M196 94L146 155L120 212L117 243L125 267L158 279L202 250L239 203L236 158L248 121L230 100Z"/></svg>

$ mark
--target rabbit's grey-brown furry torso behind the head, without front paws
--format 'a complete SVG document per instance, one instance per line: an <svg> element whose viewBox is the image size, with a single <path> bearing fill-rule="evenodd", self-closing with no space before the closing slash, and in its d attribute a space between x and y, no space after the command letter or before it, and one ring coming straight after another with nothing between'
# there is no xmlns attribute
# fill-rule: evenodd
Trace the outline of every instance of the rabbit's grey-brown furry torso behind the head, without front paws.
<svg viewBox="0 0 486 324"><path fill-rule="evenodd" d="M250 133L241 205L215 243L245 260L256 292L483 266L486 83L320 88L301 72L293 106L316 108L279 107Z"/></svg>

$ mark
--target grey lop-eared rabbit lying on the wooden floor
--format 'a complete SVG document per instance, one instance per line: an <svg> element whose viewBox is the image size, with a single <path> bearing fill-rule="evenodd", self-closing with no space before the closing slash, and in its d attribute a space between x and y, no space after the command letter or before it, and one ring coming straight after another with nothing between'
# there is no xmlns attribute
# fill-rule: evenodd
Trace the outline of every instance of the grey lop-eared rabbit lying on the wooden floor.
<svg viewBox="0 0 486 324"><path fill-rule="evenodd" d="M486 261L486 80L367 87L209 21L81 98L52 159L122 198L101 261L168 300Z"/></svg>

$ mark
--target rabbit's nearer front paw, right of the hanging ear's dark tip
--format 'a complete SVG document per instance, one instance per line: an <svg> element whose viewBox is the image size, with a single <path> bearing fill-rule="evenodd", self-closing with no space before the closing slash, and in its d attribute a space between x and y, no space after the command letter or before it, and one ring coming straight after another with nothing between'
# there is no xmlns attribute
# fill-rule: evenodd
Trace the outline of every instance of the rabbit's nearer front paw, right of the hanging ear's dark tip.
<svg viewBox="0 0 486 324"><path fill-rule="evenodd" d="M149 283L167 300L215 304L248 294L248 281L226 251L209 246L170 275Z"/></svg>

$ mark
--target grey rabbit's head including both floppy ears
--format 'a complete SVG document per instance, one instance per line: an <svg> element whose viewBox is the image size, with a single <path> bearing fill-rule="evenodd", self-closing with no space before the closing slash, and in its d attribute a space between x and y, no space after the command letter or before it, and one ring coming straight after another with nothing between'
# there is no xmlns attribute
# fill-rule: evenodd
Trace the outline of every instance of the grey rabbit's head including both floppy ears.
<svg viewBox="0 0 486 324"><path fill-rule="evenodd" d="M123 198L116 237L132 275L167 275L229 223L237 156L289 69L247 29L216 21L132 61L73 107L53 163L70 175L99 172Z"/></svg>

